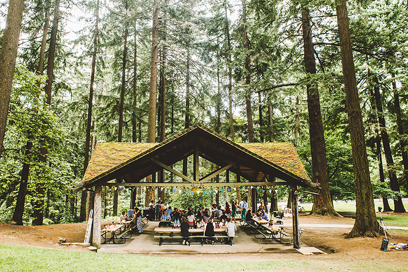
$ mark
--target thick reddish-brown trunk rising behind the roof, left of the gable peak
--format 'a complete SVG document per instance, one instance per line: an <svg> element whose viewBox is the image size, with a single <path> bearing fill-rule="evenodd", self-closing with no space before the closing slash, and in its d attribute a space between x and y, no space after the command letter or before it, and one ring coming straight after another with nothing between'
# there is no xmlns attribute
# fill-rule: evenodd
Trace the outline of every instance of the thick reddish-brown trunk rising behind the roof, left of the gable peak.
<svg viewBox="0 0 408 272"><path fill-rule="evenodd" d="M150 86L149 86L149 117L147 126L147 142L156 142L156 100L157 100L157 58L159 45L159 3L155 0L153 27L151 38ZM147 191L147 190L146 190ZM146 192L147 196L147 192Z"/></svg>

